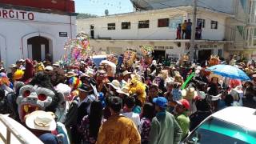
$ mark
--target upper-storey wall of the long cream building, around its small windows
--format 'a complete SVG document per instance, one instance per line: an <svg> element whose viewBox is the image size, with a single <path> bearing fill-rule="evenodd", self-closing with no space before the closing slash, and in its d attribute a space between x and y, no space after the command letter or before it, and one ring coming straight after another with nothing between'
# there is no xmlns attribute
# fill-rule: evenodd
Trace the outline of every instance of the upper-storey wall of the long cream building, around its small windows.
<svg viewBox="0 0 256 144"><path fill-rule="evenodd" d="M202 11L202 10L201 10ZM223 40L225 38L226 15L202 11L198 18L206 20L206 27L202 30L202 39ZM203 13L203 14L202 14ZM111 39L175 39L176 29L169 27L158 27L158 19L170 18L170 23L174 20L191 18L189 12L184 10L150 10L146 12L135 12L130 14L118 14L108 17L78 19L78 32L85 31L90 35L90 25L94 25L94 38ZM138 29L138 21L150 20L149 29ZM210 29L210 21L218 21L218 29ZM115 30L107 30L107 23L115 22ZM122 30L122 22L131 22L130 30Z"/></svg>

